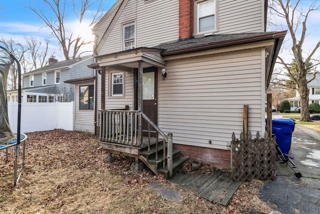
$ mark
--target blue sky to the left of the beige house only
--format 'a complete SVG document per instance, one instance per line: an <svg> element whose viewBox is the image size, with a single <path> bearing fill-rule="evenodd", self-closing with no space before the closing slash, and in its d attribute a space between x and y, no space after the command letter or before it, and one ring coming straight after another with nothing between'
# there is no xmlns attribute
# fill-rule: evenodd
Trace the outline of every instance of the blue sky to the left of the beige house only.
<svg viewBox="0 0 320 214"><path fill-rule="evenodd" d="M69 1L66 1L69 2ZM77 2L80 2L79 0ZM104 0L102 9L104 10L104 14L108 11L112 5L116 2L116 0ZM14 41L24 41L24 37L34 36L38 39L49 39L51 41L51 48L58 50L58 43L56 39L51 35L50 29L47 27L43 27L44 23L40 18L32 12L27 7L31 6L32 8L42 9L44 3L42 0L0 0L0 38L4 40L9 40L12 38ZM68 7L70 6L70 7ZM66 7L66 20L65 27L68 30L76 31L74 29L74 21L76 17L72 12L71 5ZM96 8L92 8L92 10L96 10ZM52 16L52 12L46 12L47 17ZM87 17L87 19L90 19ZM82 27L82 34L87 37L91 37L89 39L93 40L93 36L91 35L91 30ZM92 50L92 45L85 47L82 51ZM90 53L87 53L90 54ZM86 55L87 55L86 54ZM55 54L55 56L59 60L63 60L62 54Z"/></svg>

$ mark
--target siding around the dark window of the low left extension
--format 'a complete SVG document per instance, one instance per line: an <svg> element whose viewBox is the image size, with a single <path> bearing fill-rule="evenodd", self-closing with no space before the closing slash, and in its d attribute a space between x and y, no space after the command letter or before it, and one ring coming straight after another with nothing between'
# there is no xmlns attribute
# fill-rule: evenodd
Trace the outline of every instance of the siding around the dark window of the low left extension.
<svg viewBox="0 0 320 214"><path fill-rule="evenodd" d="M75 119L74 130L94 133L94 110L79 110L79 88L82 85L93 85L93 81L75 85Z"/></svg>

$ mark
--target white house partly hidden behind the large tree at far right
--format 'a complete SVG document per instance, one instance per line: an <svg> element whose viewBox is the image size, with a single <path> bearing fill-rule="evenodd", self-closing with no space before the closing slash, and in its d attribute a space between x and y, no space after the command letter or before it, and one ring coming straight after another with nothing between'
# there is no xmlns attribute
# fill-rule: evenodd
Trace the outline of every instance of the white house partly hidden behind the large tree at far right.
<svg viewBox="0 0 320 214"><path fill-rule="evenodd" d="M310 77L306 77L307 80L310 80ZM309 89L309 105L311 103L319 103L320 101L320 74L317 74L315 79L307 84ZM287 99L290 102L291 110L300 107L300 95L296 91L295 97Z"/></svg>

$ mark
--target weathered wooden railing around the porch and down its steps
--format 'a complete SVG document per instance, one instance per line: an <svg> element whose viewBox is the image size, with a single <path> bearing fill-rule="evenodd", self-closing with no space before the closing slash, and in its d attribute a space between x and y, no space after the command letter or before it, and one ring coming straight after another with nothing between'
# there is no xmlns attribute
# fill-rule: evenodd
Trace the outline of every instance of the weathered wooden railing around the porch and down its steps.
<svg viewBox="0 0 320 214"><path fill-rule="evenodd" d="M141 120L148 123L148 151L150 150L150 126L156 132L155 159L158 159L158 135L162 136L163 168L167 159L167 170L172 176L172 133L166 136L143 112L133 110L99 110L99 140L140 146L142 142ZM166 145L167 144L167 145ZM165 158L166 157L166 158Z"/></svg>

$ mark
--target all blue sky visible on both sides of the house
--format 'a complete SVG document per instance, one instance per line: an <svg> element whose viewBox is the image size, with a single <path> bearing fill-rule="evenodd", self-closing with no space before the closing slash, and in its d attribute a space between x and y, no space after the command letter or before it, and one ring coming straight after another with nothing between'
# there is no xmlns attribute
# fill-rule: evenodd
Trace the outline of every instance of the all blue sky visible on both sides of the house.
<svg viewBox="0 0 320 214"><path fill-rule="evenodd" d="M69 2L69 1L67 1ZM79 2L79 0L78 0ZM104 0L103 10L108 11L110 7L116 2L116 0ZM308 7L312 0L301 1L302 7ZM12 38L15 41L24 41L25 36L33 35L40 39L50 39L52 42L51 48L58 49L58 44L56 43L54 37L51 36L48 28L41 28L44 26L43 22L34 14L30 9L26 8L28 5L31 7L42 8L42 0L0 0L0 38L5 40ZM70 10L70 7L66 7L67 23L65 23L67 29L74 31L74 14ZM307 8L305 8L306 10ZM93 9L94 10L94 9ZM48 13L48 15L50 15ZM314 47L314 45L319 41L320 37L320 11L314 11L309 15L307 20L307 38L303 45L303 51L308 53ZM276 22L281 22L276 20ZM72 29L73 28L73 29ZM91 31L87 28L82 28L83 34L90 35ZM91 36L92 37L92 36ZM285 45L290 45L290 36L287 35L285 38ZM92 50L92 46L87 46L86 49ZM319 57L320 51L315 54L315 58ZM293 58L288 49L283 50L279 54L286 62L290 62ZM56 54L56 57L61 60L62 55Z"/></svg>

